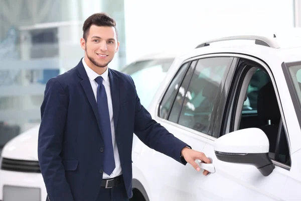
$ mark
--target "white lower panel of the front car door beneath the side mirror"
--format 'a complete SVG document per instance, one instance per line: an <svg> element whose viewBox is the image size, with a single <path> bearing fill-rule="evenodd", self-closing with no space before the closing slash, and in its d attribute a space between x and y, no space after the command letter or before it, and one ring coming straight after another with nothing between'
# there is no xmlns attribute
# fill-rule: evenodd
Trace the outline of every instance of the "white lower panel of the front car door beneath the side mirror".
<svg viewBox="0 0 301 201"><path fill-rule="evenodd" d="M281 200L289 171L276 166L265 177L252 165L219 161L213 147L214 141L208 141L203 151L212 159L216 173L196 181L194 186L205 198L194 200Z"/></svg>

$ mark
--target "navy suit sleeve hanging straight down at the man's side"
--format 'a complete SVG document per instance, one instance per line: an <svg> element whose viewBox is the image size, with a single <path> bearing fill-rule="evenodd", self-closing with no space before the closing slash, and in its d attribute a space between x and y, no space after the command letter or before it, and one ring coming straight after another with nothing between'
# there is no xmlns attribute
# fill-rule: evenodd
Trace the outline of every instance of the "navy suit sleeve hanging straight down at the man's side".
<svg viewBox="0 0 301 201"><path fill-rule="evenodd" d="M66 123L68 98L61 84L51 78L41 106L38 157L50 200L73 201L60 156Z"/></svg>

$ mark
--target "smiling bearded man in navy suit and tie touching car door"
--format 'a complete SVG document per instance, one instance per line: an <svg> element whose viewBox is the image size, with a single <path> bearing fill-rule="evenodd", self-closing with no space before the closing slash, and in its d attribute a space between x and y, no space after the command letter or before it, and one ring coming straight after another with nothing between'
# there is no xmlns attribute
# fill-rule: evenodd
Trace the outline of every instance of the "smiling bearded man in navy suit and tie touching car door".
<svg viewBox="0 0 301 201"><path fill-rule="evenodd" d="M115 26L104 13L90 16L80 41L85 57L47 82L38 156L48 200L128 200L133 133L197 171L196 159L211 162L152 119L129 75L108 68L119 47Z"/></svg>

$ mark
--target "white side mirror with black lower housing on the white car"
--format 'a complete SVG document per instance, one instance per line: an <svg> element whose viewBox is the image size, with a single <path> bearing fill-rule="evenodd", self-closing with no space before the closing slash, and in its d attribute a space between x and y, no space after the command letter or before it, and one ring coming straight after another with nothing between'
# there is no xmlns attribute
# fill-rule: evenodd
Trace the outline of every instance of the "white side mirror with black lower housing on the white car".
<svg viewBox="0 0 301 201"><path fill-rule="evenodd" d="M268 157L268 139L258 128L242 129L218 138L214 151L219 160L254 165L264 176L275 168Z"/></svg>

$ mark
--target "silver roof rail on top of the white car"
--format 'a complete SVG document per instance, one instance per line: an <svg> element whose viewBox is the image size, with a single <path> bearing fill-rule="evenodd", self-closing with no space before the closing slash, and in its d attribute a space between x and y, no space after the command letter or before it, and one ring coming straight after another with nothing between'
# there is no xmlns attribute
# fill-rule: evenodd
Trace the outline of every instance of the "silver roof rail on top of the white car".
<svg viewBox="0 0 301 201"><path fill-rule="evenodd" d="M217 38L213 40L208 40L203 42L202 44L198 45L196 48L209 46L210 43L220 42L220 41L231 41L231 40L255 40L256 45L263 45L271 48L280 48L278 43L271 38L265 36L254 36L254 35L245 35L245 36L230 36L230 37L223 37Z"/></svg>

